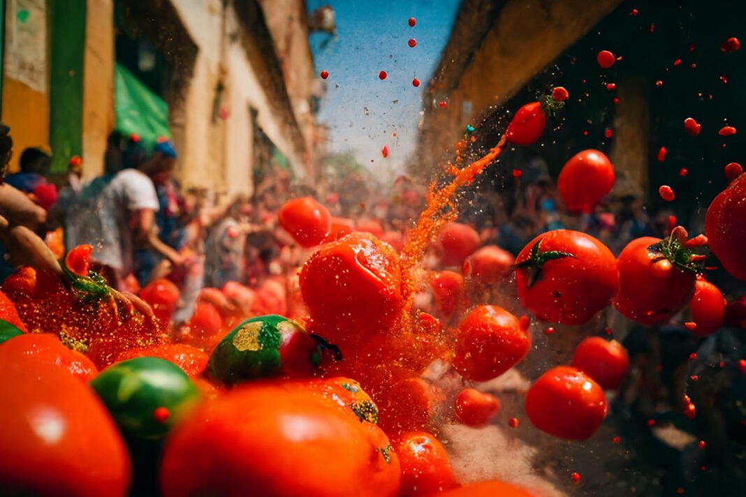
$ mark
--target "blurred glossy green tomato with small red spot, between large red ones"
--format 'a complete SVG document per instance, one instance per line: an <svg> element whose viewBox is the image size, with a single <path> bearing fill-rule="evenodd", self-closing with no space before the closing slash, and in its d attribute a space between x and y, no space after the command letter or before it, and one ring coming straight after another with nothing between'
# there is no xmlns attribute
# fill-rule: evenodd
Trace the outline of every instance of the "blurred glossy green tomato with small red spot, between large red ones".
<svg viewBox="0 0 746 497"><path fill-rule="evenodd" d="M197 387L180 367L157 357L113 364L90 385L119 428L143 438L163 437L199 396Z"/></svg>

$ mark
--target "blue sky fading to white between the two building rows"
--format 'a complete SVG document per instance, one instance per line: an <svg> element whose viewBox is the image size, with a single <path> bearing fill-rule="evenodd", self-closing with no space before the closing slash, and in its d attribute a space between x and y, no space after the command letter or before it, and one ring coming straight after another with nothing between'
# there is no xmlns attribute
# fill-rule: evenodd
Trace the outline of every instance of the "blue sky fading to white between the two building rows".
<svg viewBox="0 0 746 497"><path fill-rule="evenodd" d="M422 95L448 42L459 0L308 0L307 5L309 11L331 5L336 13L336 37L310 37L316 74L329 72L318 116L329 127L329 151L352 151L380 177L401 174L415 149ZM417 19L414 28L407 24L410 17ZM410 38L417 40L415 48L408 45ZM386 71L386 80L378 78L380 71ZM412 85L414 77L419 88ZM389 148L387 159L381 157L383 145Z"/></svg>

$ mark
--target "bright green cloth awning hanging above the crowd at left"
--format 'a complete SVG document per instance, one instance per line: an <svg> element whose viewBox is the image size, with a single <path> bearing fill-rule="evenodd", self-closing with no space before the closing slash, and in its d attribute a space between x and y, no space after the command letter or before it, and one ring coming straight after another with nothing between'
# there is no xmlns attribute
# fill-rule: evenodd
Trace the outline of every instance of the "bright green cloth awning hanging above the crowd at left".
<svg viewBox="0 0 746 497"><path fill-rule="evenodd" d="M119 64L114 66L114 118L116 130L137 134L145 145L160 136L171 138L168 104Z"/></svg>

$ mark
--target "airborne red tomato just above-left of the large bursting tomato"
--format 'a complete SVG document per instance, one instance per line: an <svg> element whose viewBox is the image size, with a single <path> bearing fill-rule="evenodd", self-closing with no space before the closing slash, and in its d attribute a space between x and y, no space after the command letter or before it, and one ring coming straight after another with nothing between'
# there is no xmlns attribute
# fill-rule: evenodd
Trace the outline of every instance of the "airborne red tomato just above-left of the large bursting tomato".
<svg viewBox="0 0 746 497"><path fill-rule="evenodd" d="M301 247L320 244L329 232L329 211L311 197L288 200L280 207L278 217L280 226Z"/></svg>

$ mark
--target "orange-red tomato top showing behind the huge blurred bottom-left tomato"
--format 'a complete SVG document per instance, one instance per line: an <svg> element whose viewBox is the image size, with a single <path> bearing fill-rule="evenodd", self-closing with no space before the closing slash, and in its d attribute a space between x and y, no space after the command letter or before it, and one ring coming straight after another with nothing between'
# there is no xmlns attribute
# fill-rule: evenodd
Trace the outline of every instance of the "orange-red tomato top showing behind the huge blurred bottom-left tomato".
<svg viewBox="0 0 746 497"><path fill-rule="evenodd" d="M98 373L93 361L81 352L67 348L57 335L51 333L24 333L5 341L3 347L8 355L34 355L40 362L62 367L83 382L93 379Z"/></svg>

